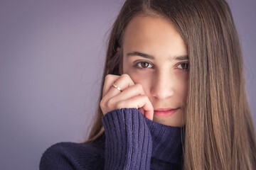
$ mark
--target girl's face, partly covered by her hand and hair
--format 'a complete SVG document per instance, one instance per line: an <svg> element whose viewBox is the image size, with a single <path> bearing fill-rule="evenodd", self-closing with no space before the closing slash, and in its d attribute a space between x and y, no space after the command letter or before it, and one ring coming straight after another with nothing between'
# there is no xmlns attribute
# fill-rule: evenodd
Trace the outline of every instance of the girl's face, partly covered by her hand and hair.
<svg viewBox="0 0 256 170"><path fill-rule="evenodd" d="M165 18L141 15L129 22L123 40L121 72L144 87L154 122L183 126L188 52L181 35Z"/></svg>

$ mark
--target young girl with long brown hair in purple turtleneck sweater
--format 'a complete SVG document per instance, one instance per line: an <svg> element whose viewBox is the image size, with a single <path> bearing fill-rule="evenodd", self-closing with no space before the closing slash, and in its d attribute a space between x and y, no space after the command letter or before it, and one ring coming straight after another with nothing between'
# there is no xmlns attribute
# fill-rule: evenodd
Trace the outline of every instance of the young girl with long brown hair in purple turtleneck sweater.
<svg viewBox="0 0 256 170"><path fill-rule="evenodd" d="M40 169L256 169L242 53L224 0L127 0L95 125Z"/></svg>

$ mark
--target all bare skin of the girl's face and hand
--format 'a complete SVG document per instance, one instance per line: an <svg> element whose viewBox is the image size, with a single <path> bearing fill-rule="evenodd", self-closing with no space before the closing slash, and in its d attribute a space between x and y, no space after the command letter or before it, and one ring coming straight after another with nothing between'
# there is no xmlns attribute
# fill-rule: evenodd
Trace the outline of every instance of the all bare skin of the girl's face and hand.
<svg viewBox="0 0 256 170"><path fill-rule="evenodd" d="M105 78L102 112L138 108L149 120L183 126L188 53L174 26L165 18L136 16L124 32L122 50L122 75L109 74Z"/></svg>

